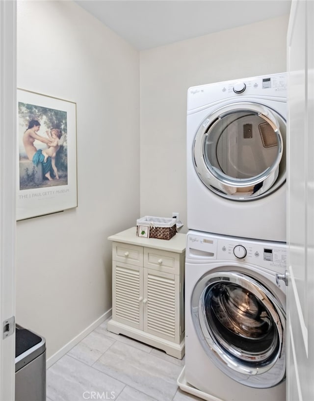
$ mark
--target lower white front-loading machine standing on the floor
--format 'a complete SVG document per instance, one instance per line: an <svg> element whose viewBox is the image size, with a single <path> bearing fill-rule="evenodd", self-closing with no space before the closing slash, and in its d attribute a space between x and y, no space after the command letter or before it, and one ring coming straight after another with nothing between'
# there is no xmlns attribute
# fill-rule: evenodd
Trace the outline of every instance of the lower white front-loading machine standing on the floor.
<svg viewBox="0 0 314 401"><path fill-rule="evenodd" d="M286 256L281 242L188 232L184 391L286 400Z"/></svg>

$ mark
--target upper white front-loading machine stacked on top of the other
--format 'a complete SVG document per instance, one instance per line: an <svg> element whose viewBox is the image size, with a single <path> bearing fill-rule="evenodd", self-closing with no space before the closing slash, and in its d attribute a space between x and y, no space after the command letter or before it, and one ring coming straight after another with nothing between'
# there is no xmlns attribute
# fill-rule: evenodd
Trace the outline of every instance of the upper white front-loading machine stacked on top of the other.
<svg viewBox="0 0 314 401"><path fill-rule="evenodd" d="M188 89L187 226L286 241L287 74Z"/></svg>

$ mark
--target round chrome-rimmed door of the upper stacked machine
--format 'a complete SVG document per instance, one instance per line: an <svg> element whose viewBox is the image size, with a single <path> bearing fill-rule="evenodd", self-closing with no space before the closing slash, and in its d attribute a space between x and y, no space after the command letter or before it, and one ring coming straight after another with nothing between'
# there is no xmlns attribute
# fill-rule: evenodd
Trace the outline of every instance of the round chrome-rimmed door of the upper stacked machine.
<svg viewBox="0 0 314 401"><path fill-rule="evenodd" d="M262 198L286 180L286 121L259 103L211 113L198 129L194 166L214 193L236 201Z"/></svg>

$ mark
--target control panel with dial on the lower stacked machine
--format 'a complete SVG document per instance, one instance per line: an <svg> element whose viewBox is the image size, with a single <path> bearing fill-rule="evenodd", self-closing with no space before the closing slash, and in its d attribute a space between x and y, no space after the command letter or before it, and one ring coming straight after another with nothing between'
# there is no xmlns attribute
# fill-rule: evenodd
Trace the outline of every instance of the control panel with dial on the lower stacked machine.
<svg viewBox="0 0 314 401"><path fill-rule="evenodd" d="M287 245L281 242L250 240L223 235L187 234L186 258L193 263L209 260L246 262L282 272L287 267Z"/></svg>

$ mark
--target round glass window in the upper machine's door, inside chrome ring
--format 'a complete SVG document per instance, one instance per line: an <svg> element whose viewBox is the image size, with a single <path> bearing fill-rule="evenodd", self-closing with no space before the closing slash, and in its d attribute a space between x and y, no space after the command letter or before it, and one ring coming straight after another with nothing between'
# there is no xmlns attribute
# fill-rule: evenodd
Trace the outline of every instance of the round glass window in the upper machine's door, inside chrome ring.
<svg viewBox="0 0 314 401"><path fill-rule="evenodd" d="M235 111L217 119L204 143L205 162L229 177L252 178L272 166L279 140L271 125L257 113Z"/></svg>

